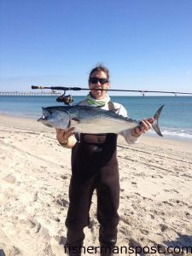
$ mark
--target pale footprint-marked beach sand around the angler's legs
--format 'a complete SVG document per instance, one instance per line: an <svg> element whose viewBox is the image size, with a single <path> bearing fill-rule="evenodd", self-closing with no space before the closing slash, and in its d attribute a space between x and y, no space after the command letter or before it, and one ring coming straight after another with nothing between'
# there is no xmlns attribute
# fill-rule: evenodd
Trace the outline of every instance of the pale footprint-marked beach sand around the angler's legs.
<svg viewBox="0 0 192 256"><path fill-rule="evenodd" d="M33 119L0 115L0 130L0 255L67 255L71 150L57 143L54 129ZM119 137L118 158L119 253L114 255L135 255L120 247L145 247L144 253L158 245L161 252L192 247L192 143L143 136L128 145ZM84 247L99 246L95 194L90 218Z"/></svg>

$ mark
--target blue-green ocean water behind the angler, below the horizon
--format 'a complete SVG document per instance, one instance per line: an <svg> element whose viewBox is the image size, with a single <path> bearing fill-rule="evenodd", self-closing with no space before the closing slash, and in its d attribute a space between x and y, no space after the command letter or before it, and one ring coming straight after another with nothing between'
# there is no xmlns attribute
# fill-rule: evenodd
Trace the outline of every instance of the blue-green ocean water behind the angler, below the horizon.
<svg viewBox="0 0 192 256"><path fill-rule="evenodd" d="M73 96L73 104L84 96ZM38 119L42 107L59 106L56 96L0 96L0 113ZM192 96L111 96L112 102L122 104L132 119L154 116L161 105L159 125L164 137L192 143ZM154 136L154 131L149 131ZM156 136L156 135L155 135Z"/></svg>

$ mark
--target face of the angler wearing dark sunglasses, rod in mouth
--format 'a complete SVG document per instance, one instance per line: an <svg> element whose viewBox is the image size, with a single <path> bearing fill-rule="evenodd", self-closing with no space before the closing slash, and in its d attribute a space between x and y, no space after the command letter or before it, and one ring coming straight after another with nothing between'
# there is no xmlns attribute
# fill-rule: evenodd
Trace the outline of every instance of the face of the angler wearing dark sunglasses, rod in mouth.
<svg viewBox="0 0 192 256"><path fill-rule="evenodd" d="M101 79L101 80L99 80ZM89 87L90 87L90 94L93 98L96 100L102 100L107 91L106 90L94 90L94 89L108 89L109 88L109 82L108 82L108 76L103 71L96 71L90 75L90 81L89 81Z"/></svg>

